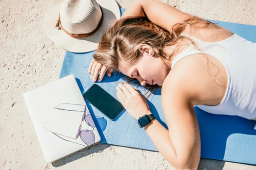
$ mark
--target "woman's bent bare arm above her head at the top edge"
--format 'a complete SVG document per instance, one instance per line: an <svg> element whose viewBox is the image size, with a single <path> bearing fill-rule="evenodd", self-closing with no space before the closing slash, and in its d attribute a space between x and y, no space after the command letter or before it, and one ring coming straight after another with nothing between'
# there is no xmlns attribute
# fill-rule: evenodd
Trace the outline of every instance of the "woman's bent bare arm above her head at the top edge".
<svg viewBox="0 0 256 170"><path fill-rule="evenodd" d="M149 20L167 31L170 31L176 23L192 17L158 0L134 0L134 2L125 10L122 17L147 16Z"/></svg>

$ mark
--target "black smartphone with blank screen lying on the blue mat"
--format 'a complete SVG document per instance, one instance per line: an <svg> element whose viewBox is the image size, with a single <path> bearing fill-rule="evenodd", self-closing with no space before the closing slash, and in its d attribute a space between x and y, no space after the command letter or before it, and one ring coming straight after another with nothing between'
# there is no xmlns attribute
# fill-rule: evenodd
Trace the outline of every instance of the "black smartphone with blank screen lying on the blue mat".
<svg viewBox="0 0 256 170"><path fill-rule="evenodd" d="M97 84L93 84L83 94L83 98L111 120L116 119L124 109L117 99Z"/></svg>

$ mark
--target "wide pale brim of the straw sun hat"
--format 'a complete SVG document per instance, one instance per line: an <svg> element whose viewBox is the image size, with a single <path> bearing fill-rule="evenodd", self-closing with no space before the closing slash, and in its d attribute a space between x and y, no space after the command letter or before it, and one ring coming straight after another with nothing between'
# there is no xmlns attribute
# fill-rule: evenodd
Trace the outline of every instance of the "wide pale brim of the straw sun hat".
<svg viewBox="0 0 256 170"><path fill-rule="evenodd" d="M98 31L85 38L73 38L65 34L61 29L55 27L58 17L59 8L63 0L55 0L46 11L44 18L44 28L50 39L60 47L71 52L89 52L98 47L98 42L102 34L109 30L114 23L120 18L120 9L116 0L96 0L101 6L103 12L103 22Z"/></svg>

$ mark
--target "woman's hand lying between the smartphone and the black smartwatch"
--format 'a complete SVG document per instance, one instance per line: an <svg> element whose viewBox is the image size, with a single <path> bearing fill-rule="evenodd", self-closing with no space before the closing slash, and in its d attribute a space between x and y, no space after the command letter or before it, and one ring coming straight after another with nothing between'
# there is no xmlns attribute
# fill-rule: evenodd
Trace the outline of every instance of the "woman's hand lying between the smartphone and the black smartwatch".
<svg viewBox="0 0 256 170"><path fill-rule="evenodd" d="M151 114L146 99L133 86L118 84L117 96L126 111L135 119L145 114Z"/></svg>

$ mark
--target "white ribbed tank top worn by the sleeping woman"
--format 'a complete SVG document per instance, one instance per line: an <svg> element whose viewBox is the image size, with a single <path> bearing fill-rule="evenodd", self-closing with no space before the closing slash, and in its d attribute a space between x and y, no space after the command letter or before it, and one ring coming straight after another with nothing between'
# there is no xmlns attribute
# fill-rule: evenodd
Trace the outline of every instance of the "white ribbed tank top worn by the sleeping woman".
<svg viewBox="0 0 256 170"><path fill-rule="evenodd" d="M228 87L223 101L216 106L197 106L213 114L256 118L256 43L237 34L218 42L204 42L185 35L194 40L200 50L191 45L173 59L172 68L184 57L205 53L217 58L228 74Z"/></svg>

